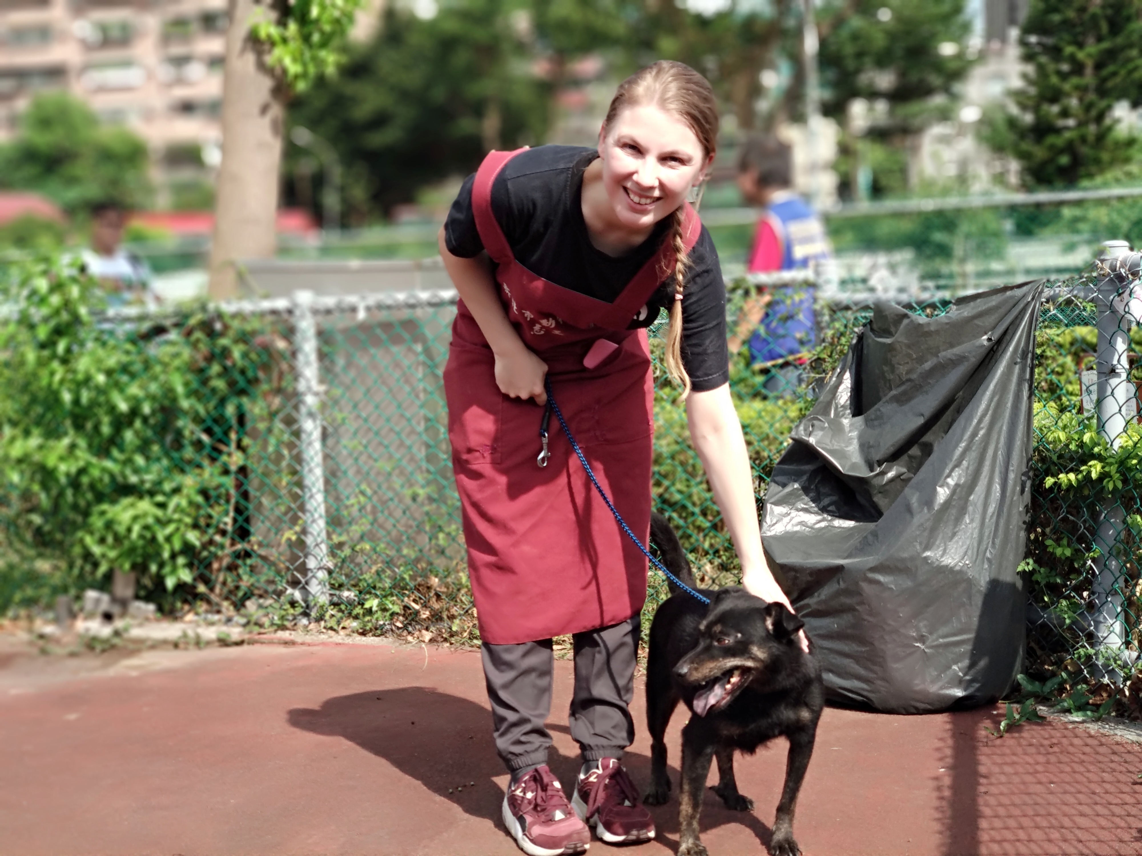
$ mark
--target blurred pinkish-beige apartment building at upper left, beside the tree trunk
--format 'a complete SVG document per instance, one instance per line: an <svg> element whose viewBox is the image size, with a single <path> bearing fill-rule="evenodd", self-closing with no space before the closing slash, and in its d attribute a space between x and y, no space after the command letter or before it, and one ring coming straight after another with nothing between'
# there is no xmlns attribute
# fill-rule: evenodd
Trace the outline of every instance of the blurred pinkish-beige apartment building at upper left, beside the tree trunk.
<svg viewBox="0 0 1142 856"><path fill-rule="evenodd" d="M226 0L0 0L0 139L64 89L146 140L160 204L208 205L226 24Z"/></svg>

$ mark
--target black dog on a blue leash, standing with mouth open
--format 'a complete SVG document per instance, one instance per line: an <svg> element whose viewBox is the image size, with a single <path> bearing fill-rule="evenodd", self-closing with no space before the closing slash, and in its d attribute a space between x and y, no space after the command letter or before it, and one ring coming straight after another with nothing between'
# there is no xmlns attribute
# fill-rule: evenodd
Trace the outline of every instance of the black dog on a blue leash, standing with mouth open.
<svg viewBox="0 0 1142 856"><path fill-rule="evenodd" d="M693 588L682 544L659 515L651 520L651 540L670 573ZM659 607L650 629L651 785L643 802L661 806L669 799L662 737L679 700L694 716L682 729L678 856L706 856L698 815L710 760L717 758L721 777L715 793L727 808L749 811L754 802L738 793L733 778L733 751L754 752L783 734L789 759L770 853L797 856L794 807L825 706L821 669L798 640L803 622L783 604L767 604L737 587L701 590L710 599L708 607L673 584L670 589L674 593Z"/></svg>

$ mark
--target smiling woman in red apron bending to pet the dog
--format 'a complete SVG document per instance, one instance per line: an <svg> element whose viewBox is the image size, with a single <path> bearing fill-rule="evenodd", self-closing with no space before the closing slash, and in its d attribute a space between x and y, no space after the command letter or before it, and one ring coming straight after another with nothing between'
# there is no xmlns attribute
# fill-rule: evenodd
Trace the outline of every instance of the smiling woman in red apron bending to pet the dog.
<svg viewBox="0 0 1142 856"><path fill-rule="evenodd" d="M645 328L669 309L666 365L743 570L788 604L765 565L745 439L730 401L725 286L686 203L714 161L709 83L656 63L618 89L598 148L493 152L464 185L440 249L460 296L444 389L496 748L512 773L504 822L528 854L654 837L621 766L634 738L646 560L553 426L549 381L600 483L645 542L652 395ZM561 442L562 441L562 442ZM569 805L547 767L552 637L574 639Z"/></svg>

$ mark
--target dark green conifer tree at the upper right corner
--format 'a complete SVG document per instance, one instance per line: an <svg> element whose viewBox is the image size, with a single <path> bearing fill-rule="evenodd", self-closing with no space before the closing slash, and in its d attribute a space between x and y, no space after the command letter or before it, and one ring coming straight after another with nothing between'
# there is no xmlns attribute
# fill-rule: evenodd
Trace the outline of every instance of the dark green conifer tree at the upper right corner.
<svg viewBox="0 0 1142 856"><path fill-rule="evenodd" d="M1142 0L1034 0L1020 46L1030 71L1011 152L1024 183L1073 185L1120 164L1134 143L1112 111L1142 105Z"/></svg>

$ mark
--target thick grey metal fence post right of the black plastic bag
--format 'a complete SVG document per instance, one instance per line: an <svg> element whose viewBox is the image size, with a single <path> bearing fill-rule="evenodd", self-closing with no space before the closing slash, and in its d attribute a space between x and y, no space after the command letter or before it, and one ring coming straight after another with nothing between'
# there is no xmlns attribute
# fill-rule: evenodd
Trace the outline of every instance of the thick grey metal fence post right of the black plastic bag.
<svg viewBox="0 0 1142 856"><path fill-rule="evenodd" d="M1134 385L1129 379L1131 337L1125 316L1125 300L1115 298L1118 292L1129 285L1126 275L1118 273L1124 257L1131 255L1126 241L1107 241L1105 250L1100 260L1109 270L1103 270L1095 292L1095 307L1099 313L1099 339L1095 365L1099 373L1099 434L1112 447L1117 449L1126 433L1126 425L1134 410ZM1120 259L1121 261L1112 261ZM1092 627L1095 645L1115 652L1124 652L1126 643L1126 625L1123 621L1125 603L1121 592L1124 580L1123 566L1115 555L1124 528L1125 515L1121 499L1108 494L1102 500L1102 512L1095 546L1099 557L1095 559L1095 579L1091 590L1094 600Z"/></svg>

